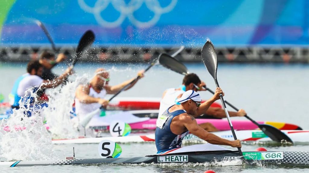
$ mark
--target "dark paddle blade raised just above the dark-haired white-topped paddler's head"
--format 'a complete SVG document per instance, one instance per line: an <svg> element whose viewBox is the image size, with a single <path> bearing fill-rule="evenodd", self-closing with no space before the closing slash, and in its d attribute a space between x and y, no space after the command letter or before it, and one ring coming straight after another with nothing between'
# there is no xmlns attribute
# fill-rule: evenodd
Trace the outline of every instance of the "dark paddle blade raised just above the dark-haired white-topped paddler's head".
<svg viewBox="0 0 309 173"><path fill-rule="evenodd" d="M168 68L168 69L171 69L177 73L180 73L180 74L183 74L183 75L186 75L188 74L188 69L186 66L184 66L183 63L179 62L176 58L174 57L171 57L170 55L168 54L160 54L159 55L159 63Z"/></svg>

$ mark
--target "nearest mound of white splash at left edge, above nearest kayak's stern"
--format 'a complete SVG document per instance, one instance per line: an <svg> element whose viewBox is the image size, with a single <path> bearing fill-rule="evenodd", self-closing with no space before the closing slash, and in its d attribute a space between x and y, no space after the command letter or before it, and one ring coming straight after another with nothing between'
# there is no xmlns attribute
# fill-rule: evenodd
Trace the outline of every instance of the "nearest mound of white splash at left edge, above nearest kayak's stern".
<svg viewBox="0 0 309 173"><path fill-rule="evenodd" d="M32 92L30 92L32 93ZM35 96L34 93L31 94ZM37 100L35 100L37 102ZM27 104L30 105L30 99ZM28 118L24 111L32 111ZM31 110L20 101L9 119L0 123L0 157L9 160L47 160L55 157L51 137L43 125L40 110ZM6 129L6 131L4 130Z"/></svg>

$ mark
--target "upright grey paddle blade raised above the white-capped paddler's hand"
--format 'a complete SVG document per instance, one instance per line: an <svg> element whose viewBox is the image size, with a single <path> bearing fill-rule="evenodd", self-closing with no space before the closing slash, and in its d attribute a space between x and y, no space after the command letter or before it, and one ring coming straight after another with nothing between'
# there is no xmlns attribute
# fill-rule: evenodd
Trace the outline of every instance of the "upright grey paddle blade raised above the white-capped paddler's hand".
<svg viewBox="0 0 309 173"><path fill-rule="evenodd" d="M214 45L208 39L201 51L201 57L204 62L205 67L209 71L210 75L216 79L217 78L217 52L214 49Z"/></svg>

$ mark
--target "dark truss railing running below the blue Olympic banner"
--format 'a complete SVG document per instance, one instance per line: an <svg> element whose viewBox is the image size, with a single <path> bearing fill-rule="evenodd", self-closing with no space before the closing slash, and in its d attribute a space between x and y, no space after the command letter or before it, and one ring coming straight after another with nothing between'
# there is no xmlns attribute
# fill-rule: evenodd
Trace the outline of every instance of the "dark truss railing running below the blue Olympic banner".
<svg viewBox="0 0 309 173"><path fill-rule="evenodd" d="M59 52L74 56L75 47L57 47ZM178 47L93 47L80 61L144 62L160 53L172 53ZM0 47L0 61L29 61L51 47ZM298 62L309 63L306 47L217 47L220 62ZM200 62L201 48L186 47L176 58L184 62Z"/></svg>

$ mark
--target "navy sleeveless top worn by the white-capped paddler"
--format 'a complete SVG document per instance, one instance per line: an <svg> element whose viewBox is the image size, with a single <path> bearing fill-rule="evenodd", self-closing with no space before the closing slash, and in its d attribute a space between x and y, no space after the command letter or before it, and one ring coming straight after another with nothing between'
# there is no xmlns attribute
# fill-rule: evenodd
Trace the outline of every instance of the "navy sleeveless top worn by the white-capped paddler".
<svg viewBox="0 0 309 173"><path fill-rule="evenodd" d="M168 110L171 107L169 107L162 115L158 117L157 127L155 130L155 145L158 150L157 154L169 151L171 149L180 148L182 139L189 133L189 131L185 131L181 135L176 135L171 132L170 125L172 119L177 115L186 112L184 110L169 112Z"/></svg>

